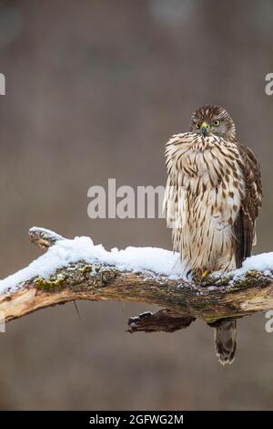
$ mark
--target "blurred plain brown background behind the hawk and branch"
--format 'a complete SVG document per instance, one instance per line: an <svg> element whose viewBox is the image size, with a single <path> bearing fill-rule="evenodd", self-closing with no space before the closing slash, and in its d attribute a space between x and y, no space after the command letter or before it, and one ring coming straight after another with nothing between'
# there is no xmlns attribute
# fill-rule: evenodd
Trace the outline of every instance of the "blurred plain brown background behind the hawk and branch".
<svg viewBox="0 0 273 429"><path fill-rule="evenodd" d="M39 251L27 230L91 235L112 246L171 248L164 220L93 220L87 189L165 184L164 144L207 102L230 111L258 152L264 206L255 252L273 248L270 0L0 2L0 276ZM217 364L212 330L135 334L148 306L72 304L0 335L1 409L270 409L273 334L238 322L238 354Z"/></svg>

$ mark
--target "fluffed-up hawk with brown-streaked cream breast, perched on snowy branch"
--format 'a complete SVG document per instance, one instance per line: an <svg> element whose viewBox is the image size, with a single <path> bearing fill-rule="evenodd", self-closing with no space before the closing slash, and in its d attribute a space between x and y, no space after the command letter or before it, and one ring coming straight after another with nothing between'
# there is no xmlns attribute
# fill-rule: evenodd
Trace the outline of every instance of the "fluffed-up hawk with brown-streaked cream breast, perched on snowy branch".
<svg viewBox="0 0 273 429"><path fill-rule="evenodd" d="M257 157L238 142L227 110L201 107L192 115L189 130L167 142L164 199L174 250L187 277L242 266L256 242L262 200ZM234 360L236 337L235 320L215 329L220 363Z"/></svg>

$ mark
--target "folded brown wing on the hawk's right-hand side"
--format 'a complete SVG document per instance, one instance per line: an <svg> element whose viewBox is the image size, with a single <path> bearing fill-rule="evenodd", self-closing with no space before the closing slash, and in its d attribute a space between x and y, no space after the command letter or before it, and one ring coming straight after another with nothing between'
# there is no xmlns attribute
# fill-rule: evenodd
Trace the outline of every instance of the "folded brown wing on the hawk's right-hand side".
<svg viewBox="0 0 273 429"><path fill-rule="evenodd" d="M246 196L241 203L238 219L234 225L236 236L236 267L241 267L246 257L251 256L255 239L255 224L261 207L262 184L256 155L247 147L238 144L241 169L244 173Z"/></svg>

